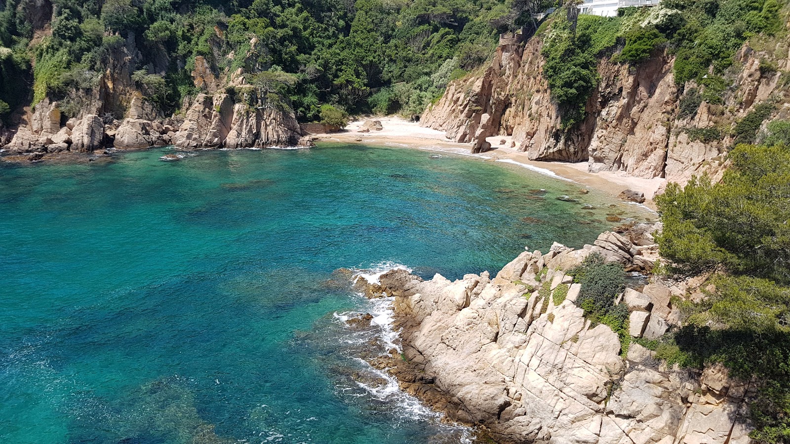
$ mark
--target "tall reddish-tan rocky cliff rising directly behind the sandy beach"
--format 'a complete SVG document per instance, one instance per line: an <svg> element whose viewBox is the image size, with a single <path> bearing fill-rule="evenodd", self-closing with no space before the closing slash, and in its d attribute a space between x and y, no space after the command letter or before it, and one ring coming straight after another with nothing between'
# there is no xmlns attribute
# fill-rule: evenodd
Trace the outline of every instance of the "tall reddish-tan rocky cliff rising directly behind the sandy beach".
<svg viewBox="0 0 790 444"><path fill-rule="evenodd" d="M782 119L790 114L790 85L780 81L781 71L790 70L790 47L763 43L758 51L747 43L728 70L732 84L720 103L701 100L693 112L683 113L684 94L698 85L675 85L672 55L662 51L637 66L604 56L584 121L562 130L543 75L543 45L540 36L525 45L500 45L486 70L450 84L420 124L446 131L457 142L474 141L478 152L491 149L486 137L506 135L532 160L586 161L591 172L687 182L703 172L720 174L735 123L755 105L772 103L773 115ZM778 69L761 70L766 60Z"/></svg>

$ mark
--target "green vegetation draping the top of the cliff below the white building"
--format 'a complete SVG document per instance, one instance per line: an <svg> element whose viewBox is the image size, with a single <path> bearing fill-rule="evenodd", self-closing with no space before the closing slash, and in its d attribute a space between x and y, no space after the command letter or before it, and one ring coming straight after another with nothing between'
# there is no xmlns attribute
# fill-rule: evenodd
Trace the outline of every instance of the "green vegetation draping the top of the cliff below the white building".
<svg viewBox="0 0 790 444"><path fill-rule="evenodd" d="M784 6L784 0L664 0L656 8L620 9L618 17L581 15L577 22L564 11L555 13L541 27L542 52L544 77L561 108L563 129L585 119L587 100L598 85L598 63L606 55L636 66L663 48L675 55L677 85L696 81L701 87L684 96L681 117L693 115L694 103L702 100L720 103L728 87L721 74L743 43L758 34L781 38L787 33Z"/></svg>

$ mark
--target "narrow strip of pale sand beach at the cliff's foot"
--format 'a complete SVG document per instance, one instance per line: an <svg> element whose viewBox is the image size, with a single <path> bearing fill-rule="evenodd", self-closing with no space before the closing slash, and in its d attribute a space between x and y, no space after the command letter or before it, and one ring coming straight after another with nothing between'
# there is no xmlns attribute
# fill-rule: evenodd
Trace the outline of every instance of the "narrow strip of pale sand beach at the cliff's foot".
<svg viewBox="0 0 790 444"><path fill-rule="evenodd" d="M404 148L454 152L462 155L477 156L488 161L518 164L533 171L559 176L560 179L570 179L578 182L581 186L603 190L615 196L630 188L631 190L644 193L645 198L648 198L645 201L645 205L653 209L655 208L652 201L653 195L665 182L665 179L660 178L641 179L631 177L623 171L590 173L587 171L587 162L570 164L529 160L524 152L518 152L509 148L511 137L489 137L487 141L491 143L493 148L491 151L471 154L472 144L455 143L447 139L442 131L424 128L417 123L408 122L398 117L374 118L374 120L382 122L383 130L359 133L358 130L365 120L367 119L351 122L340 133L325 134L321 138L329 141L359 142L370 145L402 146ZM502 140L505 141L504 144L501 143Z"/></svg>

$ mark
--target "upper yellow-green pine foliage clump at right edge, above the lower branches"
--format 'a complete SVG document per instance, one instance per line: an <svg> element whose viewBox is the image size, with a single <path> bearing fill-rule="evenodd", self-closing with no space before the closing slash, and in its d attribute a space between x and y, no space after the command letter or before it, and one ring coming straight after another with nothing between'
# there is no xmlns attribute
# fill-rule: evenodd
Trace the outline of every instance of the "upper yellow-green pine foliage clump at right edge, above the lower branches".
<svg viewBox="0 0 790 444"><path fill-rule="evenodd" d="M656 198L664 231L656 239L674 273L724 267L790 282L790 150L739 145L732 167L711 184L706 177Z"/></svg>

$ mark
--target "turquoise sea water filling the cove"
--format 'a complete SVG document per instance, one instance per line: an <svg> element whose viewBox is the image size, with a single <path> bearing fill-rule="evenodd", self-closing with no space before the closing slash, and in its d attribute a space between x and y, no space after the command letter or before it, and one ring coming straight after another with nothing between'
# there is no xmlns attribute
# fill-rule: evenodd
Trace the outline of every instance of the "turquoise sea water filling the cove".
<svg viewBox="0 0 790 444"><path fill-rule="evenodd" d="M640 212L412 149L165 152L0 167L2 442L462 442L360 377L376 332L337 314L382 307L333 271L495 272Z"/></svg>

